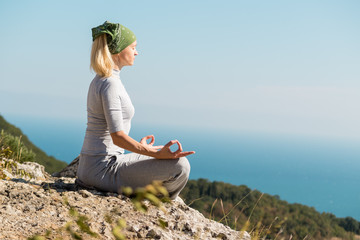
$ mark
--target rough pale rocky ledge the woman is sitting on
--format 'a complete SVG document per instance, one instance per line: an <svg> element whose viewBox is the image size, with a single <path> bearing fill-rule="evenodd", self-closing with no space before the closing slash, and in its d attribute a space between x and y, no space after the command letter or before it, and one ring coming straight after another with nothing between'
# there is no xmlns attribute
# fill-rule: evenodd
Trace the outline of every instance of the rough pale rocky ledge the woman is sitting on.
<svg viewBox="0 0 360 240"><path fill-rule="evenodd" d="M145 202L148 210L140 212L123 195L83 189L75 178L51 177L39 164L25 165L36 171L31 179L5 172L7 180L0 180L0 239L73 239L75 234L116 239L119 232L126 239L250 239L247 232L207 219L179 198L162 208ZM126 226L120 227L119 219ZM79 230L82 223L90 228Z"/></svg>

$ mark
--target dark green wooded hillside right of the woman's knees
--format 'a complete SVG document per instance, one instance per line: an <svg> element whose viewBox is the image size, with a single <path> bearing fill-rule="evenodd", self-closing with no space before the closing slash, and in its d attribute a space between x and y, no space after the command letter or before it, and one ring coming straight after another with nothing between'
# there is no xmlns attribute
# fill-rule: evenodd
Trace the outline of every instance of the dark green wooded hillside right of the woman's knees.
<svg viewBox="0 0 360 240"><path fill-rule="evenodd" d="M233 229L253 230L253 237L258 234L266 239L354 239L355 234L360 234L360 223L351 217L319 213L313 207L289 204L278 196L244 185L190 180L180 195L206 217Z"/></svg>

